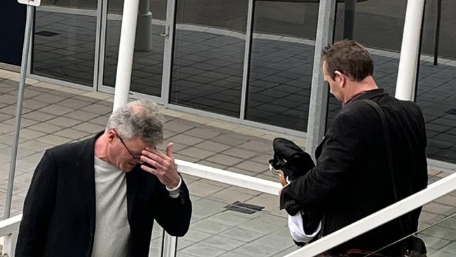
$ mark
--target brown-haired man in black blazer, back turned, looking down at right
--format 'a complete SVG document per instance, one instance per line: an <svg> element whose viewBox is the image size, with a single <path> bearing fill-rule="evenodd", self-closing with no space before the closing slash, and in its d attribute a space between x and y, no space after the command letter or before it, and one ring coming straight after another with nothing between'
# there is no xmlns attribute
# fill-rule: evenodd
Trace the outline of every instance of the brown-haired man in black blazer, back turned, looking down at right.
<svg viewBox="0 0 456 257"><path fill-rule="evenodd" d="M323 51L324 78L343 107L316 149L314 169L281 191L281 209L323 209L322 236L427 186L422 112L415 103L397 100L378 88L373 70L370 54L356 41L339 41ZM420 211L329 253L344 256L380 249L415 232ZM402 251L403 245L397 244L383 253L399 256Z"/></svg>

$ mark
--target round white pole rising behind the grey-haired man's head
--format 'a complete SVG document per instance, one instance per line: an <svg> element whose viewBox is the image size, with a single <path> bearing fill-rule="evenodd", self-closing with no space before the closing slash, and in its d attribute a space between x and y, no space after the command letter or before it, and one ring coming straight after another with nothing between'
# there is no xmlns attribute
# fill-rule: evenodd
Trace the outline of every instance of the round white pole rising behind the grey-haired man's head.
<svg viewBox="0 0 456 257"><path fill-rule="evenodd" d="M128 102L139 4L140 0L128 0L123 3L119 59L117 60L116 87L114 88L112 110L116 110Z"/></svg>

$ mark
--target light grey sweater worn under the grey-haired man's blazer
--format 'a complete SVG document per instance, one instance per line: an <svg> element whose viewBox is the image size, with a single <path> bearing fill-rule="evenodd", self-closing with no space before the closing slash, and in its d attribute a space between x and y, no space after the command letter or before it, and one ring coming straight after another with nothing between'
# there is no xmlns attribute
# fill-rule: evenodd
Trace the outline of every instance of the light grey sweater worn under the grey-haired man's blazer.
<svg viewBox="0 0 456 257"><path fill-rule="evenodd" d="M128 256L126 173L95 157L95 235L92 257Z"/></svg>

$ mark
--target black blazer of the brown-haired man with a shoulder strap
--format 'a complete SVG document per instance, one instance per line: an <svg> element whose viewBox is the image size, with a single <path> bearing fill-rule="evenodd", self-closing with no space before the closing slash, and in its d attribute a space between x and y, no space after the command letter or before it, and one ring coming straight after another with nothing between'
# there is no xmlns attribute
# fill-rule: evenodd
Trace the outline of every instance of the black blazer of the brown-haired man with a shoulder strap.
<svg viewBox="0 0 456 257"><path fill-rule="evenodd" d="M361 99L377 102L387 118L398 198L427 186L427 139L420 108L397 100L382 89L368 91L342 107L335 117L316 150L314 169L281 192L281 209L323 209L323 235L395 202L382 120ZM406 234L417 230L419 216L417 209L404 218ZM339 249L377 250L402 235L398 220L393 220Z"/></svg>

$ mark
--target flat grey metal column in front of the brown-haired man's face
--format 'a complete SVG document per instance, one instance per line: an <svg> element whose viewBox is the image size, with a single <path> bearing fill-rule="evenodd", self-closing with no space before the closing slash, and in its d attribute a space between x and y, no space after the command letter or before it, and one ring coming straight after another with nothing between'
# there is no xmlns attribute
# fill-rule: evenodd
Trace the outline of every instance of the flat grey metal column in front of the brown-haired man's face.
<svg viewBox="0 0 456 257"><path fill-rule="evenodd" d="M306 152L315 159L314 152L325 133L326 111L328 109L328 86L324 84L321 51L333 43L333 30L336 0L322 0L318 9L316 27L314 70L307 123Z"/></svg>

